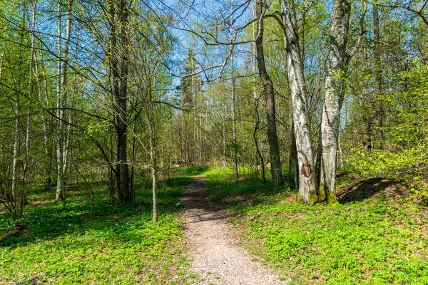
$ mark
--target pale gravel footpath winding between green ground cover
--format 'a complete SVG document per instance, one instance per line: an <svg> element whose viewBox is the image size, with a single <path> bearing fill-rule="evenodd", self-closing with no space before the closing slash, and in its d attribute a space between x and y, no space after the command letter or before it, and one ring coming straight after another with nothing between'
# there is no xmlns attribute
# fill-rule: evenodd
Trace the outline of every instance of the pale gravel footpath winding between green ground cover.
<svg viewBox="0 0 428 285"><path fill-rule="evenodd" d="M236 243L229 229L228 214L215 211L203 198L207 178L194 176L180 202L185 204L186 234L190 247L190 269L198 284L287 284Z"/></svg>

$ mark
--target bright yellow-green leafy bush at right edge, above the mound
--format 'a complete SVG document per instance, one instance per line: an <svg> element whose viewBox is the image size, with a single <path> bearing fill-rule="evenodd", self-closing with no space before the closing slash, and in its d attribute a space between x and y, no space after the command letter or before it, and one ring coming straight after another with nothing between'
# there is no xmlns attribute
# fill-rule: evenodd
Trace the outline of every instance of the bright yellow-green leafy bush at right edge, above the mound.
<svg viewBox="0 0 428 285"><path fill-rule="evenodd" d="M354 147L347 162L363 175L394 177L417 181L428 194L428 66L397 75L404 92L387 93L379 100L388 115L384 134L386 144L365 151ZM382 142L375 142L375 146Z"/></svg>

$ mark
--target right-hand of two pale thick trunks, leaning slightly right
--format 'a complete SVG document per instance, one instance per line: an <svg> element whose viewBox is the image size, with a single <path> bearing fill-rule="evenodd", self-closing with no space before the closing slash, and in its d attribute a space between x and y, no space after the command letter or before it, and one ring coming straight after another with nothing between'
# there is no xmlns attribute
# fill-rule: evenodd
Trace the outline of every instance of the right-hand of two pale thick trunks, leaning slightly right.
<svg viewBox="0 0 428 285"><path fill-rule="evenodd" d="M336 0L333 6L330 27L330 51L325 78L325 100L321 123L321 163L319 199L336 202L335 181L337 147L340 131L340 110L343 102L343 82L345 76L345 53L351 6L347 0Z"/></svg>

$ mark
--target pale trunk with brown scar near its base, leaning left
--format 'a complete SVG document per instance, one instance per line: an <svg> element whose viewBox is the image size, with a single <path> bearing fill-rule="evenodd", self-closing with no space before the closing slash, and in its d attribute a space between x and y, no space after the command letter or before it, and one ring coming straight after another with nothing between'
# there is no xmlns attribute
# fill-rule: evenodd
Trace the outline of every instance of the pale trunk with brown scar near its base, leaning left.
<svg viewBox="0 0 428 285"><path fill-rule="evenodd" d="M284 42L287 52L287 76L290 85L292 114L295 124L297 158L299 163L299 193L297 202L314 204L317 202L317 180L310 118L307 105L307 90L303 76L303 62L300 53L295 5L292 0L280 0Z"/></svg>

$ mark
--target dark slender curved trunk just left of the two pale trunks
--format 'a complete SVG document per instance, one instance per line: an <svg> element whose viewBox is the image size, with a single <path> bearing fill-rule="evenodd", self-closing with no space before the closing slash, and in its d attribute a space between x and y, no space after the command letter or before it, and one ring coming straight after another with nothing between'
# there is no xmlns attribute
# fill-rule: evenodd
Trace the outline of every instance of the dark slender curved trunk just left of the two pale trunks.
<svg viewBox="0 0 428 285"><path fill-rule="evenodd" d="M270 171L272 172L272 182L275 185L282 185L282 170L280 159L280 145L277 138L276 130L276 115L275 115L275 95L273 89L272 79L267 74L265 66L265 52L263 48L263 31L264 21L263 14L265 14L265 0L257 0L255 15L258 20L258 36L255 38L255 45L257 50L257 63L259 76L263 83L265 90L266 100L266 115L267 115L267 140L269 141L270 152Z"/></svg>

